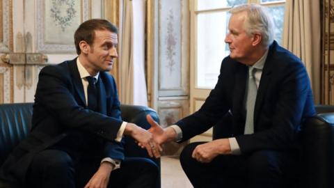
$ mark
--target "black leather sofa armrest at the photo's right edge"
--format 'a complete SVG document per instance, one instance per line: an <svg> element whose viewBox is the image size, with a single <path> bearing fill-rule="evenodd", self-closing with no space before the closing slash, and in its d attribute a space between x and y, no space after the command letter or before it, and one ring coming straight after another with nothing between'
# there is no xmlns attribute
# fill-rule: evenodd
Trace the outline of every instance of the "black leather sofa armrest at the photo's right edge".
<svg viewBox="0 0 334 188"><path fill-rule="evenodd" d="M309 118L302 129L303 187L334 187L334 113Z"/></svg>

